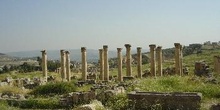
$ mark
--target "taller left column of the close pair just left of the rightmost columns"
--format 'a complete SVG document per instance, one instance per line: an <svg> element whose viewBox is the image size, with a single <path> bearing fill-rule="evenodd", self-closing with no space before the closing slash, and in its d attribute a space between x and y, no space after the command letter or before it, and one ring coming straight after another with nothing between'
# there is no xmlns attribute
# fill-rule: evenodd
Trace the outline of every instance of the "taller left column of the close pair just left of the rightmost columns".
<svg viewBox="0 0 220 110"><path fill-rule="evenodd" d="M149 45L149 47L150 47L150 55L151 55L151 58L150 58L150 73L151 73L151 76L156 76L156 63L155 63L155 48L156 48L156 45L151 44L151 45Z"/></svg>

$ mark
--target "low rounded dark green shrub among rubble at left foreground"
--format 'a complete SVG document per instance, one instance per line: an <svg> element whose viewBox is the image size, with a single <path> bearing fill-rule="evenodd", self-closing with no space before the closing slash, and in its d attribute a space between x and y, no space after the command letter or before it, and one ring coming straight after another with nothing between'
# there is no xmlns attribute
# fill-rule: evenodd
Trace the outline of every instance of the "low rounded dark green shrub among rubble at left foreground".
<svg viewBox="0 0 220 110"><path fill-rule="evenodd" d="M49 83L46 85L36 87L31 94L34 95L53 95L66 94L76 91L76 87L71 82Z"/></svg>

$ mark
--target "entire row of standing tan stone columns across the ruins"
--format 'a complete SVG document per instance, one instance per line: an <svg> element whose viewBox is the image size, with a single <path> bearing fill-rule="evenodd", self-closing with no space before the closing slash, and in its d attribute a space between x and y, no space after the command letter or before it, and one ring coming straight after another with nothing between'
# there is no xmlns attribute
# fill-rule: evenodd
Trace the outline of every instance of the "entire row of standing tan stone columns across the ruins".
<svg viewBox="0 0 220 110"><path fill-rule="evenodd" d="M176 74L182 75L182 46L179 43L174 43L175 45L175 71ZM131 67L131 45L125 44L126 47L126 75L132 77L132 67ZM156 74L156 55L158 61L158 74L162 76L162 47L158 46L156 48L155 44L149 45L150 47L150 73L151 76L157 76ZM117 48L118 52L118 81L123 81L122 76L122 48ZM155 53L156 50L156 53ZM42 70L43 76L47 79L47 55L46 50L42 52ZM86 59L86 48L81 48L82 53L82 80L87 80L87 59ZM70 81L71 71L70 71L70 57L69 52L60 50L61 55L61 78L62 81ZM108 46L104 45L103 49L99 49L99 59L100 59L100 80L109 80L109 63L108 63ZM137 47L137 77L142 78L142 52L141 47Z"/></svg>

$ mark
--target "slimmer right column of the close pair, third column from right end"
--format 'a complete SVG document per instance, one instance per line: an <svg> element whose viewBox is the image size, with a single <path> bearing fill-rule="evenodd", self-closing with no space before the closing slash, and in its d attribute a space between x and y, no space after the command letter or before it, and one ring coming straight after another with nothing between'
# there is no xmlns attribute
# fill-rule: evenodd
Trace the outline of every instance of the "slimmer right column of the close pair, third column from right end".
<svg viewBox="0 0 220 110"><path fill-rule="evenodd" d="M157 69L158 69L158 74L160 76L163 76L163 65L162 65L162 47L161 46L158 46L157 47Z"/></svg>

